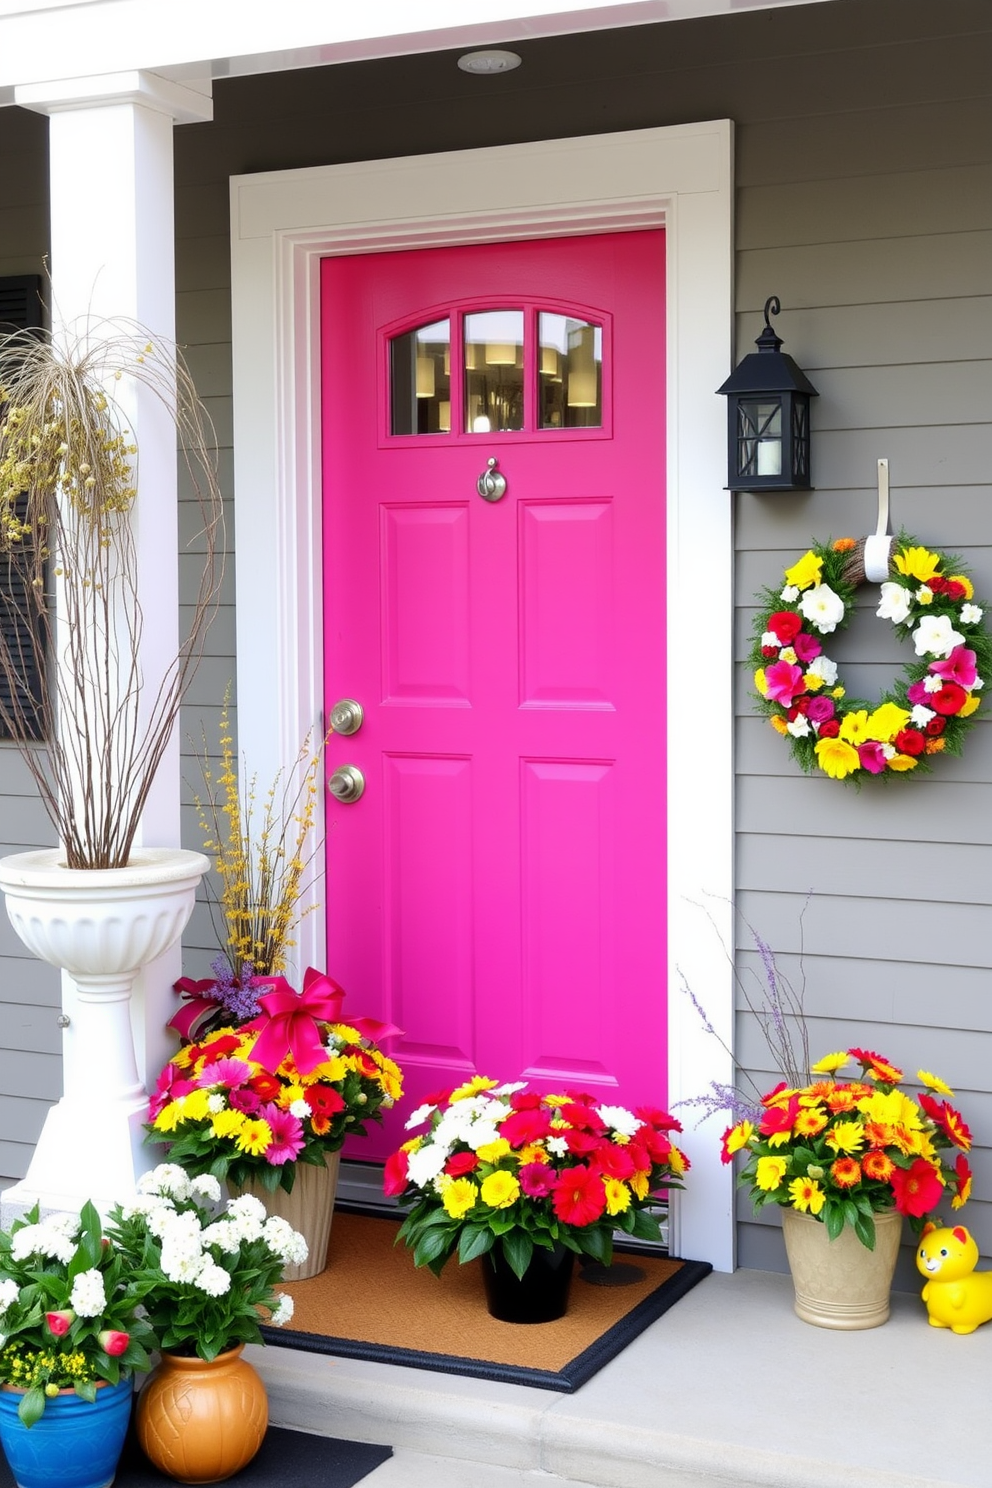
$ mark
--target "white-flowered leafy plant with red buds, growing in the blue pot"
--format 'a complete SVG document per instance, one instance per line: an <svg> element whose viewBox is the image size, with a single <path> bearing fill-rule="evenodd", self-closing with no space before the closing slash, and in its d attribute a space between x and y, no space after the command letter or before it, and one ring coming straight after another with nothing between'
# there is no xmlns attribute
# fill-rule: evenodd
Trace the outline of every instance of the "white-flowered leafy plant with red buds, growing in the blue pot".
<svg viewBox="0 0 992 1488"><path fill-rule="evenodd" d="M0 1384L22 1391L27 1427L62 1390L92 1402L100 1381L150 1367L144 1295L89 1202L43 1220L34 1205L0 1232Z"/></svg>

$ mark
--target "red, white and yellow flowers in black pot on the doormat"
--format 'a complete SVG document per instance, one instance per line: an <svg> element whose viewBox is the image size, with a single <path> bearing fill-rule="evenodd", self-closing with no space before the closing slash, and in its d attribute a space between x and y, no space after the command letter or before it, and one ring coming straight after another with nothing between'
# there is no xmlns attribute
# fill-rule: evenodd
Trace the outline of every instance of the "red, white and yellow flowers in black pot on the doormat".
<svg viewBox="0 0 992 1488"><path fill-rule="evenodd" d="M689 1168L665 1112L525 1082L476 1076L406 1126L425 1123L385 1165L387 1195L412 1205L400 1238L436 1275L455 1253L485 1257L489 1311L506 1321L561 1317L574 1256L608 1265L614 1231L659 1240L651 1205ZM531 1318L532 1302L546 1303L543 1315Z"/></svg>

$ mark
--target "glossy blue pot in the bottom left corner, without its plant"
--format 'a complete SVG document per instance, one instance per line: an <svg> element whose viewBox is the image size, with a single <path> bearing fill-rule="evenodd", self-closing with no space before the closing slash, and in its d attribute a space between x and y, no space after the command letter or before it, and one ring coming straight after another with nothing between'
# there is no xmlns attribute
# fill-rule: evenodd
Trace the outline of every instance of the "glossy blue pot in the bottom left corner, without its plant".
<svg viewBox="0 0 992 1488"><path fill-rule="evenodd" d="M0 1443L18 1488L109 1488L123 1451L134 1381L103 1385L91 1405L74 1391L22 1424L19 1390L0 1390Z"/></svg>

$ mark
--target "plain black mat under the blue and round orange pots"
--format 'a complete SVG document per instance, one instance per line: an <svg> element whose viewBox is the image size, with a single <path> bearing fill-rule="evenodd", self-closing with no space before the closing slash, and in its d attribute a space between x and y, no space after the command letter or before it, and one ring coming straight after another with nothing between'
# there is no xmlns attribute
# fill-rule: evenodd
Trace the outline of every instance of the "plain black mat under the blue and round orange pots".
<svg viewBox="0 0 992 1488"><path fill-rule="evenodd" d="M239 1488L352 1488L393 1455L391 1446L367 1442L339 1442L329 1436L309 1436L271 1426L257 1457L233 1478ZM134 1434L125 1442L115 1488L162 1488L175 1484L153 1467ZM13 1478L0 1454L0 1488L13 1488ZM55 1485L54 1485L55 1488Z"/></svg>

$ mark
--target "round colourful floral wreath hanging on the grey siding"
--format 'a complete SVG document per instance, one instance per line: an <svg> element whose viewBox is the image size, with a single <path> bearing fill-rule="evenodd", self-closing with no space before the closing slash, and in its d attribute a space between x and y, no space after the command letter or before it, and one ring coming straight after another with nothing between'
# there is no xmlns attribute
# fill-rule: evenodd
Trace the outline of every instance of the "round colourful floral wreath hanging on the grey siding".
<svg viewBox="0 0 992 1488"><path fill-rule="evenodd" d="M864 582L864 543L814 543L785 570L784 589L757 597L750 655L760 710L802 769L855 786L866 775L927 771L934 754L961 754L992 674L985 610L973 603L961 561L900 534L875 613L913 641L918 659L879 702L849 698L821 637L843 629Z"/></svg>

